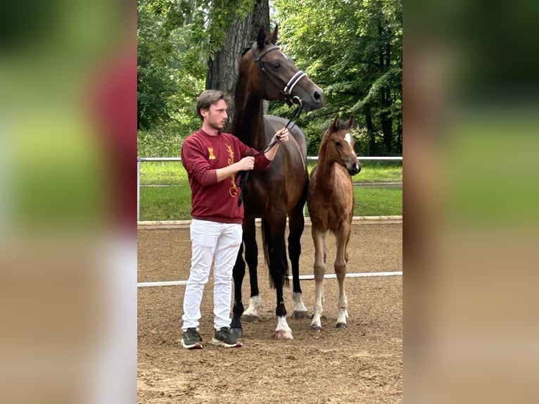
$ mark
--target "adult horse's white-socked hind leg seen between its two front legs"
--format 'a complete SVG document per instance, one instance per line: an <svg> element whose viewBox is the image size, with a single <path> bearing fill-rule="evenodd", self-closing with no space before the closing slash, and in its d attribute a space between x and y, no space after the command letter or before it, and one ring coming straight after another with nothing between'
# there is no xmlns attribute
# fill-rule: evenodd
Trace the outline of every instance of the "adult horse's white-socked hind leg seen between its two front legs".
<svg viewBox="0 0 539 404"><path fill-rule="evenodd" d="M258 290L258 245L256 244L255 218L246 217L243 220L243 242L245 243L245 260L249 268L249 281L251 282L251 297L249 306L243 312L243 321L258 321L258 309L262 303Z"/></svg>

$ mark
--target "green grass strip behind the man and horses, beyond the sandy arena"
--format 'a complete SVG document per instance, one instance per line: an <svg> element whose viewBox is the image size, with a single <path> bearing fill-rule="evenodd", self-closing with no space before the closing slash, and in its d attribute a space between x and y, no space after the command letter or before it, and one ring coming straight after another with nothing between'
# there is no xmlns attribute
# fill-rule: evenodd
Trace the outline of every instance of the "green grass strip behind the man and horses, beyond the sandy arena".
<svg viewBox="0 0 539 404"><path fill-rule="evenodd" d="M309 171L314 166L310 162ZM354 182L402 181L402 163L363 163ZM191 220L191 189L184 167L179 161L144 162L141 164L140 220ZM147 187L147 185L172 185ZM355 216L402 215L402 185L354 187ZM308 210L305 208L305 215Z"/></svg>

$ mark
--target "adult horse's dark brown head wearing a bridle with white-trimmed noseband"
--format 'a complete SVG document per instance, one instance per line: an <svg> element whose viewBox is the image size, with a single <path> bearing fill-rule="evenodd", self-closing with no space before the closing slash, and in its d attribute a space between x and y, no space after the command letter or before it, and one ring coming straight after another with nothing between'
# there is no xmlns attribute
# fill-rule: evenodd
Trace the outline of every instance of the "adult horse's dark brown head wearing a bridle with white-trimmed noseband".
<svg viewBox="0 0 539 404"><path fill-rule="evenodd" d="M299 99L307 111L321 108L325 102L324 91L275 45L277 31L276 25L267 37L262 28L251 52L243 56L242 63L248 63L251 91L269 101L284 100L291 104L299 103Z"/></svg>

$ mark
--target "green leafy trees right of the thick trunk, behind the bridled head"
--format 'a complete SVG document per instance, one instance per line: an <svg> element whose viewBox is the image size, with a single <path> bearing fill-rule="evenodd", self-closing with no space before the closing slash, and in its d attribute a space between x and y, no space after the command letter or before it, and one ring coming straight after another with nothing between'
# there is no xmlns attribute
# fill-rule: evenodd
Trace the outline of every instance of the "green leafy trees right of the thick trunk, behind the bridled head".
<svg viewBox="0 0 539 404"><path fill-rule="evenodd" d="M402 153L402 2L274 0L281 47L326 93L298 120L309 154L337 113L355 117L365 155ZM272 106L281 115L282 107Z"/></svg>

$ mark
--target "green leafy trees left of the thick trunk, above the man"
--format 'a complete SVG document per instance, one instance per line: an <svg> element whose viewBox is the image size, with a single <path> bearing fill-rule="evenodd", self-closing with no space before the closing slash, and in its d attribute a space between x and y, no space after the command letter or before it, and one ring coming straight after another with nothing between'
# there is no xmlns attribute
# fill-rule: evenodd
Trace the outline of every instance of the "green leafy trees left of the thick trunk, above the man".
<svg viewBox="0 0 539 404"><path fill-rule="evenodd" d="M208 59L255 0L138 1L138 127L189 126Z"/></svg>

